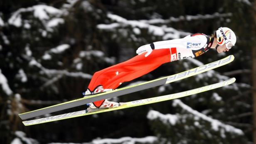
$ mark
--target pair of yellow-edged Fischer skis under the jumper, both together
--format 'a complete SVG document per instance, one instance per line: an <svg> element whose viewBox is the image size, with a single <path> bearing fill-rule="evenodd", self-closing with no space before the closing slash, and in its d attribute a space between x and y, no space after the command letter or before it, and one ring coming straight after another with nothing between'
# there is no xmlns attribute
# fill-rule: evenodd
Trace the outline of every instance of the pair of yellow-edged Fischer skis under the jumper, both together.
<svg viewBox="0 0 256 144"><path fill-rule="evenodd" d="M66 103L60 103L60 104L53 105L53 106L50 106L50 107L45 107L45 108L42 108L42 109L39 109L39 110L34 110L34 111L31 111L31 112L22 113L22 114L19 114L19 116L22 120L25 120L25 119L29 119L29 118L32 118L32 117L45 115L45 114L48 114L48 113L51 113L51 112L57 112L57 111L60 111L60 110L71 108L71 107L84 105L86 103L91 103L91 102L94 102L94 101L107 99L107 98L113 98L113 97L116 97L116 96L125 95L125 94L128 94L128 93L133 93L133 92L136 92L136 91L145 90L145 89L148 89L148 88L153 88L155 86L163 85L163 84L166 84L166 83L172 83L174 81L178 81L178 80L181 80L181 79L184 79L184 78L188 78L190 76L197 75L199 73L203 73L205 71L212 70L214 68L218 68L220 66L224 66L224 65L230 63L233 60L234 60L234 56L230 55L230 56L227 56L224 59L220 59L219 61L214 61L212 63L208 63L208 64L205 64L203 66L199 66L197 68L193 68L193 69L190 69L188 71L184 71L182 73L177 73L177 74L172 75L172 76L166 76L166 77L163 77L163 78L158 78L158 79L153 80L153 81L148 81L148 82L145 82L145 83L139 83L139 84L136 84L136 85L127 86L127 87L116 89L116 90L109 91L109 92L106 92L106 93L100 93L100 94L91 95L91 96L88 96L88 97L85 97L85 98L71 100L71 101L66 102ZM181 92L181 93L175 93L175 94L171 94L171 95L164 95L164 96L160 96L160 97L147 98L147 99L144 99L144 100L135 100L135 101L123 103L119 107L108 108L108 109L99 109L98 111L95 111L95 112L87 112L86 110L81 110L81 111L78 111L78 112L70 112L70 113L66 113L66 114L62 114L62 115L44 117L44 118L35 119L35 120L27 120L27 121L23 121L23 124L25 124L25 126L33 125L33 124L41 124L41 123L45 123L45 122L52 122L52 121L57 121L57 120L69 119L69 118L73 118L73 117L80 117L80 116L84 116L84 115L92 115L92 114L101 113L101 112L120 110L120 109L124 109L124 108L128 108L128 107L135 107L135 106L139 106L139 105L147 105L147 104L151 104L151 103L158 103L158 102L165 101L165 100L172 100L172 99L175 99L175 98L181 98L181 97L185 97L185 96L188 96L188 95L193 95L193 94L196 94L196 93L202 93L202 92L207 91L207 90L212 90L212 89L219 88L219 87L222 87L222 86L225 86L225 85L229 85L231 83L234 83L234 81L236 81L236 79L231 78L227 81L223 81L223 82L220 82L220 83L215 83L215 84L212 84L212 85L207 85L207 86L204 86L204 87L201 87L201 88L196 88L196 89L184 91L184 92Z"/></svg>

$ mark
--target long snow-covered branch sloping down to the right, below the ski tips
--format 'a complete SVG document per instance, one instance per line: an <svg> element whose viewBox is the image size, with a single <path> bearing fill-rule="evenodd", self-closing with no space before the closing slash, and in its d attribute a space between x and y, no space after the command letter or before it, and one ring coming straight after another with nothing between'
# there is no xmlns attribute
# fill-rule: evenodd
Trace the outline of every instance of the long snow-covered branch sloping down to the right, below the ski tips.
<svg viewBox="0 0 256 144"><path fill-rule="evenodd" d="M231 133L236 133L239 135L244 135L244 132L241 129L237 129L231 125L228 124L224 124L222 122L220 122L219 120L215 120L211 117L208 117L207 115L204 115L196 110L193 110L191 107L185 105L184 103L182 103L181 100L173 100L172 105L174 107L176 107L177 105L179 105L180 107L182 107L182 109L186 110L187 112L190 112L191 114L200 117L203 120L206 120L208 122L210 122L212 124L212 129L215 131L219 131L219 127L222 127L225 129L226 132L231 132Z"/></svg>

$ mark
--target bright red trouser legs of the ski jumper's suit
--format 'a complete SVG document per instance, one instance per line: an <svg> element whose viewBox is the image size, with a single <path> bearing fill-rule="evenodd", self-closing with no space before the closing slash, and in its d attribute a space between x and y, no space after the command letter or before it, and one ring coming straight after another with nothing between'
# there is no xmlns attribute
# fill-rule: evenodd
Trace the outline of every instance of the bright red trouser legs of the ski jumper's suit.
<svg viewBox="0 0 256 144"><path fill-rule="evenodd" d="M144 55L135 56L128 61L94 73L88 89L94 91L98 85L116 89L121 83L143 76L163 63L170 62L170 49L156 49L148 57ZM94 102L94 105L99 107L103 102L104 100L100 100Z"/></svg>

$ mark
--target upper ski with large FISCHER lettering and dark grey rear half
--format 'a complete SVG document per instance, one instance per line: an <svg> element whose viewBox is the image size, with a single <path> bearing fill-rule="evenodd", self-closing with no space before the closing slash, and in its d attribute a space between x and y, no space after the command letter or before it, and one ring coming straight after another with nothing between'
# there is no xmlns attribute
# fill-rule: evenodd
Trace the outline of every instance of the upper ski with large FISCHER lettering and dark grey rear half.
<svg viewBox="0 0 256 144"><path fill-rule="evenodd" d="M166 77L158 78L158 79L155 79L155 80L152 80L152 81L127 86L127 87L116 89L116 90L113 90L113 91L108 91L106 93L99 93L97 95L90 95L90 96L87 96L87 97L84 97L84 98L71 100L71 101L68 101L68 102L65 102L65 103L60 103L60 104L57 104L57 105L44 107L44 108L41 108L41 109L38 109L38 110L25 112L25 113L19 114L19 116L22 120L25 120L25 119L29 119L29 118L32 118L32 117L45 115L45 114L48 114L48 113L51 113L51 112L57 112L57 111L60 111L60 110L69 109L71 107L84 105L86 103L92 103L92 102L95 102L95 101L98 101L98 100L113 98L113 97L116 97L116 96L125 95L125 94L128 94L128 93L133 93L133 92L137 92L137 91L140 91L140 90L153 88L155 86L163 85L163 84L166 84L166 83L172 83L174 81L178 81L178 80L181 80L181 79L184 79L184 78L188 78L190 76L197 75L199 73L203 73L205 71L212 70L214 68L218 68L220 66L224 66L224 65L230 63L233 60L234 60L234 56L230 55L230 56L227 56L224 59L220 59L218 61L214 61L212 63L208 63L208 64L205 64L203 66L199 66L197 68L193 68L193 69L190 69L190 70L187 70L187 71L184 71L184 72L181 72L181 73L177 73L177 74L174 74L174 75L171 75L171 76L166 76Z"/></svg>

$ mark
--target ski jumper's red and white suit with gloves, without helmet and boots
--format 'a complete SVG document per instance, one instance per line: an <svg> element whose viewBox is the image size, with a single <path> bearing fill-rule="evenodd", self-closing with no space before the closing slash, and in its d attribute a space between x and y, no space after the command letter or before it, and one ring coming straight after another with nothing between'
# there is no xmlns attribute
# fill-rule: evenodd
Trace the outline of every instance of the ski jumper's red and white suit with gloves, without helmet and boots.
<svg viewBox="0 0 256 144"><path fill-rule="evenodd" d="M143 76L163 63L200 56L210 49L212 42L213 38L199 33L182 39L154 42L150 44L153 51L149 56L145 57L144 53L94 73L88 89L93 92L101 85L106 89L116 89L122 83ZM96 101L94 105L100 107L103 102Z"/></svg>

